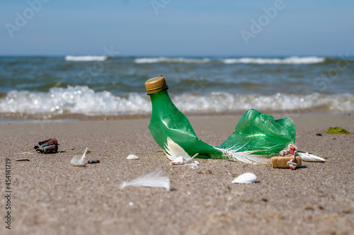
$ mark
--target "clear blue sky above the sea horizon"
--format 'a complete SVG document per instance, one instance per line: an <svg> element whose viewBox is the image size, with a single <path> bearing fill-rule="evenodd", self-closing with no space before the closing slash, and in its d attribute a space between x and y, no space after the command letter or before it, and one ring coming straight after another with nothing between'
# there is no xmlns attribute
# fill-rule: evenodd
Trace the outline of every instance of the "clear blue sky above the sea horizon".
<svg viewBox="0 0 354 235"><path fill-rule="evenodd" d="M0 55L354 55L353 0L29 0L0 10Z"/></svg>

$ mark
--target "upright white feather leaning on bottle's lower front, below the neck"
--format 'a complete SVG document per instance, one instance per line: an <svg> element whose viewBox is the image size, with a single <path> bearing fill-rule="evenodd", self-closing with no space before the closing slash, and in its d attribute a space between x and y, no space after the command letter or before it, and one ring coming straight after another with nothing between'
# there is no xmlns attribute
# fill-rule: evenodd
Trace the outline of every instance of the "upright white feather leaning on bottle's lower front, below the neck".
<svg viewBox="0 0 354 235"><path fill-rule="evenodd" d="M165 147L165 154L167 158L170 159L171 165L188 165L192 168L198 168L199 162L193 161L195 156L198 156L198 154L189 156L189 154L184 151L181 146L173 142L170 137L167 137L167 143L165 144Z"/></svg>

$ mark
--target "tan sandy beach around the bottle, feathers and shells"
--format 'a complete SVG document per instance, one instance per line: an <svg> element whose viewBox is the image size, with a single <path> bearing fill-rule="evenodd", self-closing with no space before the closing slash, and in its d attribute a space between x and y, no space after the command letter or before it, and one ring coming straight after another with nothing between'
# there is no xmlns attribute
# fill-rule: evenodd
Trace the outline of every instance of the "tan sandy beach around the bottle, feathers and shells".
<svg viewBox="0 0 354 235"><path fill-rule="evenodd" d="M354 134L324 134L334 126L354 132L353 115L292 119L298 149L326 163L303 162L295 171L213 159L198 159L198 170L170 166L147 130L149 119L0 124L0 233L10 234L4 223L8 158L11 234L354 234ZM215 145L238 120L190 118L198 137ZM35 153L35 144L51 137L59 153ZM86 147L87 158L101 163L71 166ZM127 160L128 154L140 159ZM20 158L30 161L15 161ZM123 180L156 168L173 190L120 190ZM258 183L231 183L246 172Z"/></svg>

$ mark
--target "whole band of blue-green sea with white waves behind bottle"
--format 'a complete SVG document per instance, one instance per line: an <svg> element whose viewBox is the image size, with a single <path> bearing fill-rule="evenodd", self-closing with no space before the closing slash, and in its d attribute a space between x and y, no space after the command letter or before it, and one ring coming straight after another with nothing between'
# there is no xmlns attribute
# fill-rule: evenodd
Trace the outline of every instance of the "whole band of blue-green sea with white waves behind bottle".
<svg viewBox="0 0 354 235"><path fill-rule="evenodd" d="M163 75L185 114L352 113L354 58L0 57L0 117L149 115Z"/></svg>

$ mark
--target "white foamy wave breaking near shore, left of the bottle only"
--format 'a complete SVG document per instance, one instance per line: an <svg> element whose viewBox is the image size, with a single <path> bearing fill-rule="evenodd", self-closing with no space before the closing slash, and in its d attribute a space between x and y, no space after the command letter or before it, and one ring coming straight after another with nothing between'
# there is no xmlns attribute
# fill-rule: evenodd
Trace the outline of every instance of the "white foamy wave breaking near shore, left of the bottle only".
<svg viewBox="0 0 354 235"><path fill-rule="evenodd" d="M0 113L131 115L150 110L148 98L137 93L119 97L108 91L95 92L87 86L50 88L47 93L10 91L0 100Z"/></svg>

